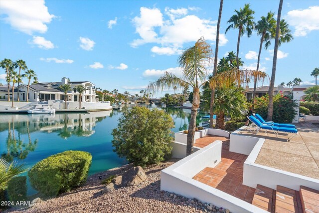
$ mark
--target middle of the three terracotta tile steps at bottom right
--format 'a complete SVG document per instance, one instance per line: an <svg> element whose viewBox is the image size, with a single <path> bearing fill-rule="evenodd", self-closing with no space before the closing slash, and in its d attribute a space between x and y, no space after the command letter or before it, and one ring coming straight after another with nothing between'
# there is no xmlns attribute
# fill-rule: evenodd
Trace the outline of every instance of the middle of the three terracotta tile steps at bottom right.
<svg viewBox="0 0 319 213"><path fill-rule="evenodd" d="M299 192L277 186L275 213L302 213Z"/></svg>

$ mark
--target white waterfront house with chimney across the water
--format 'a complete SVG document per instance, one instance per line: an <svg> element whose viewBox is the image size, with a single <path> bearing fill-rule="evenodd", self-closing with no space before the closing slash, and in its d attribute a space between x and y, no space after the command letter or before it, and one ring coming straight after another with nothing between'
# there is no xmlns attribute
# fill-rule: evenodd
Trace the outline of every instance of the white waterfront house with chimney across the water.
<svg viewBox="0 0 319 213"><path fill-rule="evenodd" d="M67 93L68 101L78 101L79 93L75 90L77 85L84 85L86 87L85 92L82 94L82 102L95 102L95 85L89 81L70 81L67 78L62 78L61 82L47 82L31 84L29 87L28 98L31 102L36 101L48 101L48 100L64 100L64 93L59 88L60 85L70 84L71 90ZM26 99L27 85L19 85L20 100ZM17 95L16 93L14 96Z"/></svg>

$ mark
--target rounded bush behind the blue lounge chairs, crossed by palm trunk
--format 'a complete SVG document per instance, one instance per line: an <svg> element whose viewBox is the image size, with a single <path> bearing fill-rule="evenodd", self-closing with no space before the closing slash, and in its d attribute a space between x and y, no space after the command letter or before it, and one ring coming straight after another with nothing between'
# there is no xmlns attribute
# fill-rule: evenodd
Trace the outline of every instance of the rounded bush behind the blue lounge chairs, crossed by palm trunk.
<svg viewBox="0 0 319 213"><path fill-rule="evenodd" d="M268 113L269 96L265 95L254 99L254 113L258 113L266 120ZM298 112L296 101L290 96L284 96L281 93L274 96L273 118L274 122L290 123L293 121ZM250 114L252 113L252 103L249 106Z"/></svg>

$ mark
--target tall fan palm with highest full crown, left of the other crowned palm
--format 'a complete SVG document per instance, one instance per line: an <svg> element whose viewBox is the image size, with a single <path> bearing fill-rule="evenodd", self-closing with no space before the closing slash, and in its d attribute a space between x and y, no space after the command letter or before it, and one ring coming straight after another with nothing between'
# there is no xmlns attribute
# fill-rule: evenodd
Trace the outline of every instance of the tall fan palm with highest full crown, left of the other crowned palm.
<svg viewBox="0 0 319 213"><path fill-rule="evenodd" d="M239 44L240 44L240 37L243 36L245 34L245 32L247 33L247 36L250 37L250 35L252 34L252 30L254 29L254 16L253 14L255 13L255 11L253 11L250 8L250 4L246 3L244 5L244 8L240 8L240 10L238 11L237 9L235 9L236 14L234 14L233 16L231 16L229 18L229 20L227 21L227 23L231 23L227 29L226 32L230 29L230 28L238 28L238 39L237 39L237 52L236 52L236 61L237 61L237 69L239 70L239 61L238 61L238 54L239 54ZM240 82L238 82L240 85Z"/></svg>

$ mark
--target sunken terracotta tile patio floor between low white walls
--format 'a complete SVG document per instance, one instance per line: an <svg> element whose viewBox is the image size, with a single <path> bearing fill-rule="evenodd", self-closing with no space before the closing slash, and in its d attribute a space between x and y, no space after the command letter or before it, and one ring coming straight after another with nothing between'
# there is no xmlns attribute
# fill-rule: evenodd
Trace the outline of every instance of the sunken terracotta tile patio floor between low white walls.
<svg viewBox="0 0 319 213"><path fill-rule="evenodd" d="M221 162L215 168L206 167L193 179L251 204L255 189L242 184L246 158L247 155L229 152L229 141L224 141Z"/></svg>

